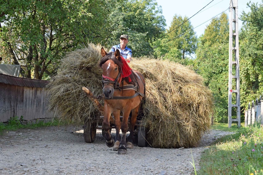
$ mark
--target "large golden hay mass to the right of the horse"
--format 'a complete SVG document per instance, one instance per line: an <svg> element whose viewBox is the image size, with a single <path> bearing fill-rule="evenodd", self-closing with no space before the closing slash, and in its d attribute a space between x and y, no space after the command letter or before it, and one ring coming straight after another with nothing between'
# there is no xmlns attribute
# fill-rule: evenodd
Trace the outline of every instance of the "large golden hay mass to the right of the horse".
<svg viewBox="0 0 263 175"><path fill-rule="evenodd" d="M144 123L152 147L196 147L209 129L213 101L203 79L167 60L134 60L130 66L146 81Z"/></svg>

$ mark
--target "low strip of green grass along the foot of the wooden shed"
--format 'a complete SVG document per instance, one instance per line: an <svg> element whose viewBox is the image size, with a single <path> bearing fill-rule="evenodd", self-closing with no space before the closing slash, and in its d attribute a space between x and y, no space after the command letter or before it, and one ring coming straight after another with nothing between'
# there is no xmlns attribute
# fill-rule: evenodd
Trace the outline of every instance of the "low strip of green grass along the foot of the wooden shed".
<svg viewBox="0 0 263 175"><path fill-rule="evenodd" d="M44 122L44 121L36 121L35 123L23 124L23 117L20 119L18 117L12 117L7 124L0 122L0 135L2 135L6 131L16 131L18 129L34 129L45 126L57 126L61 125L61 122L54 118L52 121Z"/></svg>

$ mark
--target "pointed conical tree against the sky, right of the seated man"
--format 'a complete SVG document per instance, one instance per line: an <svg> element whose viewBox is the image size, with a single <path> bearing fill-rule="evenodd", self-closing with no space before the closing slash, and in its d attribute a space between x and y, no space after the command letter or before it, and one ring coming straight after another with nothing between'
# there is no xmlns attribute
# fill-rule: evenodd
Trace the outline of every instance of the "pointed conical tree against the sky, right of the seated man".
<svg viewBox="0 0 263 175"><path fill-rule="evenodd" d="M188 18L175 15L171 27L167 31L168 53L166 57L185 59L197 48L197 36Z"/></svg>

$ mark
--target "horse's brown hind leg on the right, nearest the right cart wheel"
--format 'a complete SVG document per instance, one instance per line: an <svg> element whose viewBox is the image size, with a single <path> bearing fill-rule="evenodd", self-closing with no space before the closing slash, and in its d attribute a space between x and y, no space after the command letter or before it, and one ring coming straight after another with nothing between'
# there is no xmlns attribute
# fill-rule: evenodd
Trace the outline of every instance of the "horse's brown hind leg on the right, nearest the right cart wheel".
<svg viewBox="0 0 263 175"><path fill-rule="evenodd" d="M132 116L130 118L131 128L130 128L130 134L129 134L129 137L128 137L128 141L126 143L126 148L133 148L134 126L135 126L136 121L137 121L139 107L140 107L140 105L138 105L138 107L134 108L131 111L132 112Z"/></svg>

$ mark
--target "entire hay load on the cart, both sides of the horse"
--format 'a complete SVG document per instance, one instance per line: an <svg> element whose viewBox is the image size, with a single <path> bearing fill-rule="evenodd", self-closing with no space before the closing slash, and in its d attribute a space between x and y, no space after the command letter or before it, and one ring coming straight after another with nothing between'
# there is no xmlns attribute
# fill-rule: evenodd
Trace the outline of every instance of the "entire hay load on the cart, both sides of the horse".
<svg viewBox="0 0 263 175"><path fill-rule="evenodd" d="M61 120L83 124L100 115L82 90L85 86L94 95L102 94L102 71L97 66L100 49L89 44L61 59L59 72L48 85L49 109ZM202 77L167 60L133 59L129 65L145 77L142 125L148 129L149 144L156 148L196 147L209 129L213 107L212 94L203 86Z"/></svg>

